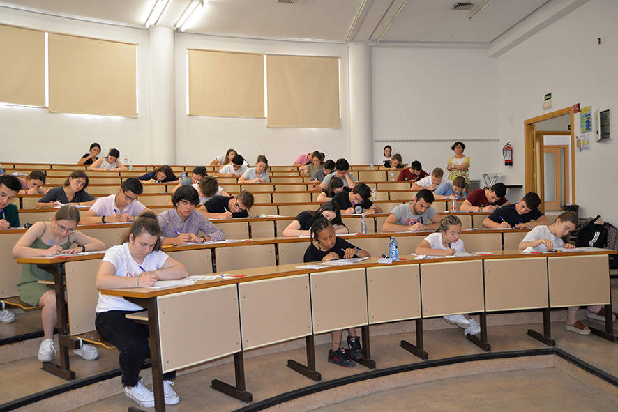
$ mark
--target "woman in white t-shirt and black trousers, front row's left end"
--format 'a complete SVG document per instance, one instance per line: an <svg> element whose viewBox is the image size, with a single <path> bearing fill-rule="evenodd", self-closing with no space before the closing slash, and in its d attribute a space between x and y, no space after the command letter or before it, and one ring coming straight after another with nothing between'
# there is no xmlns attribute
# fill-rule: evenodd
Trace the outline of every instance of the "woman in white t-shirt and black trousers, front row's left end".
<svg viewBox="0 0 618 412"><path fill-rule="evenodd" d="M160 280L183 279L187 268L161 251L161 229L153 213L140 215L122 236L122 245L105 252L96 273L97 289L151 287ZM124 393L140 406L152 408L154 394L143 385L140 369L149 351L148 326L127 319L143 307L120 296L99 293L96 305L96 330L120 351L119 363ZM163 374L165 404L174 405L180 397L170 380L176 372Z"/></svg>

